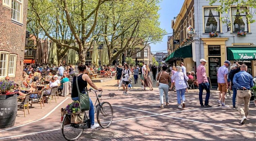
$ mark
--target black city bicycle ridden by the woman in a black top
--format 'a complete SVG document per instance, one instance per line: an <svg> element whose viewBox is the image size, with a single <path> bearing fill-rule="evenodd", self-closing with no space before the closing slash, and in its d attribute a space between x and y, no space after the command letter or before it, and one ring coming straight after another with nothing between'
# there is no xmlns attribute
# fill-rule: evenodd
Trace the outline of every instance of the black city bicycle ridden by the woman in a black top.
<svg viewBox="0 0 256 141"><path fill-rule="evenodd" d="M97 122L102 128L107 128L110 126L113 120L113 108L110 103L108 102L101 102L102 98L102 91L99 95L97 95L96 92L99 92L98 90L93 90L92 88L89 89L89 92L94 92L94 94L97 97L97 100L94 104L94 113L97 112ZM63 137L68 141L73 141L78 139L84 129L88 129L91 127L90 119L88 118L86 112L85 117L82 124L72 124L71 121L71 115L68 115L67 113L64 114L63 120L61 122L61 131Z"/></svg>

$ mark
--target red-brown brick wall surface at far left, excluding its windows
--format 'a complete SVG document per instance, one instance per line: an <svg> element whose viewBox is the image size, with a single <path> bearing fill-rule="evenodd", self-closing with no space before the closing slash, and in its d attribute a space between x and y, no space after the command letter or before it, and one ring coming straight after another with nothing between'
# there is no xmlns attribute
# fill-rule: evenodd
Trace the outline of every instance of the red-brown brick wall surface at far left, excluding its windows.
<svg viewBox="0 0 256 141"><path fill-rule="evenodd" d="M17 54L15 78L11 78L15 81L22 80L27 9L28 0L23 0L23 26L21 26L11 22L11 9L3 6L3 0L0 0L0 51Z"/></svg>

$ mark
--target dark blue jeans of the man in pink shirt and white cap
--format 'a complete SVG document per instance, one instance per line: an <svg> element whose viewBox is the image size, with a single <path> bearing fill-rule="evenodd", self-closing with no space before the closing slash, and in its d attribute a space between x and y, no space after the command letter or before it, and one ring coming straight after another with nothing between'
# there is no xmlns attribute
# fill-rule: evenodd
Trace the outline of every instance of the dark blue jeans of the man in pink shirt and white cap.
<svg viewBox="0 0 256 141"><path fill-rule="evenodd" d="M210 98L210 85L209 83L201 83L199 84L199 101L200 105L203 105L203 89L206 90L206 96L205 96L205 101L204 105L209 105L209 98Z"/></svg>

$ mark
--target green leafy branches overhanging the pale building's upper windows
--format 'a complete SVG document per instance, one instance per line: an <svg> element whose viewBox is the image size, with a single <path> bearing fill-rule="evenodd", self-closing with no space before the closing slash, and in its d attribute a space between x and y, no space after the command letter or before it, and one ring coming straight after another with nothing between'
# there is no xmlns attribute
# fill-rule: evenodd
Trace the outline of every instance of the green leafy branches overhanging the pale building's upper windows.
<svg viewBox="0 0 256 141"><path fill-rule="evenodd" d="M247 13L246 17L248 19L248 23L255 22L255 19L253 19L253 15L256 13L256 0L209 0L210 5L213 5L214 3L219 2L219 6L217 8L217 11L219 11L221 14L225 13L225 17L220 17L220 19L226 23L226 19L229 19L229 11L232 6L237 6L239 9L240 7L247 7L244 11L241 13ZM239 17L242 18L242 17Z"/></svg>

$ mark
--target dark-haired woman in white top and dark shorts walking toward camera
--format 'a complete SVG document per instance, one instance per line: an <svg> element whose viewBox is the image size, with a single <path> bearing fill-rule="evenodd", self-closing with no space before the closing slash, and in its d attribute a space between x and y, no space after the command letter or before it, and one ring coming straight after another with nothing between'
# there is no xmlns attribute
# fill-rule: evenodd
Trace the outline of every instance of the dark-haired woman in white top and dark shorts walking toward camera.
<svg viewBox="0 0 256 141"><path fill-rule="evenodd" d="M128 84L129 84L129 79L131 77L131 71L129 69L129 66L128 64L125 64L124 65L124 70L123 70L123 73L122 73L122 76L123 76L123 89L124 89L124 95L127 95L128 94ZM126 88L125 88L126 87Z"/></svg>

